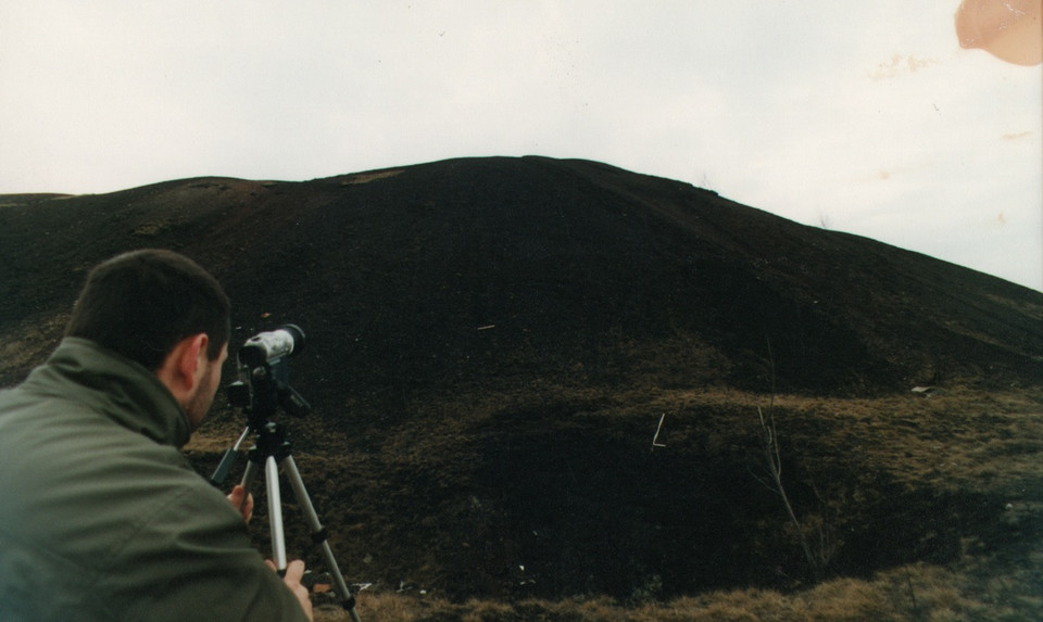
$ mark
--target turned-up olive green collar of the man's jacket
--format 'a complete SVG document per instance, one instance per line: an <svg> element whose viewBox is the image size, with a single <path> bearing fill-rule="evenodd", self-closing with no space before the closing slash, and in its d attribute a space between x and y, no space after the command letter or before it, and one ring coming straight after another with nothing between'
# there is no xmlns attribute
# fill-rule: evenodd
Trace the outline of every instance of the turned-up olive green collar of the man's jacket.
<svg viewBox="0 0 1043 622"><path fill-rule="evenodd" d="M154 373L86 339L63 339L26 384L83 402L160 444L181 448L191 435L188 417Z"/></svg>

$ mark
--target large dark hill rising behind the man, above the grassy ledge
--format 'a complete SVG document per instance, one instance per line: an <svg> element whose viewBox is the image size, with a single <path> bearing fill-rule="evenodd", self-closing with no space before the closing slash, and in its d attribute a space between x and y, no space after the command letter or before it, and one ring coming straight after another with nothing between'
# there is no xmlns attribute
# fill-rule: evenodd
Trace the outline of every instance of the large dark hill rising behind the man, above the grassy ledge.
<svg viewBox="0 0 1043 622"><path fill-rule="evenodd" d="M817 393L1043 378L1038 292L592 162L15 199L0 330L64 313L79 270L154 244L219 276L244 337L307 327L363 393L636 369L766 390L770 360L780 390Z"/></svg>

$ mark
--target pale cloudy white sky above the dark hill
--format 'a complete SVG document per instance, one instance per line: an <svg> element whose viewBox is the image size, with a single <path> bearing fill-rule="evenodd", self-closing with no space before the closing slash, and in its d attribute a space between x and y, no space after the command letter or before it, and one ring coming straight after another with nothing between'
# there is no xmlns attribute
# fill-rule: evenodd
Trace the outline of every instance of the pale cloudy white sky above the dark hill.
<svg viewBox="0 0 1043 622"><path fill-rule="evenodd" d="M1043 73L958 0L4 0L0 193L582 157L1043 290Z"/></svg>

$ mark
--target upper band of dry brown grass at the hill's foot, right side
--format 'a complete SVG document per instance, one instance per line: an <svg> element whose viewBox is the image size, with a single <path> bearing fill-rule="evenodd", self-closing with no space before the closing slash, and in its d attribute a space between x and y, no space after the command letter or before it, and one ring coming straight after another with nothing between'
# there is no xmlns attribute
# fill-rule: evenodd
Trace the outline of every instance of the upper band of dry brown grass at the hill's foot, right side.
<svg viewBox="0 0 1043 622"><path fill-rule="evenodd" d="M766 399L732 390L677 391L664 392L649 409L676 412L683 423L686 414L699 408L725 411L738 405L752 426ZM780 433L791 440L818 453L833 447L857 455L867 468L909 486L995 491L1043 481L1039 388L994 393L954 386L931 397L909 393L860 399L778 395L775 407Z"/></svg>

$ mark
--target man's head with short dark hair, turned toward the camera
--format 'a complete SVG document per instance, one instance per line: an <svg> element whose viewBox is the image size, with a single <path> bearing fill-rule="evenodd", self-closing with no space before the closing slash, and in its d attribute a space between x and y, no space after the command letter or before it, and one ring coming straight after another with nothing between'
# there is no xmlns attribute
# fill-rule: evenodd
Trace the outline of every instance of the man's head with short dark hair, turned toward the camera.
<svg viewBox="0 0 1043 622"><path fill-rule="evenodd" d="M65 335L154 372L196 427L221 381L229 316L221 284L194 262L172 251L134 251L91 270Z"/></svg>

